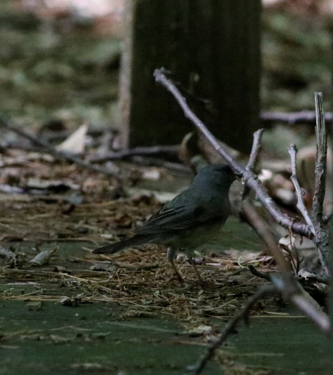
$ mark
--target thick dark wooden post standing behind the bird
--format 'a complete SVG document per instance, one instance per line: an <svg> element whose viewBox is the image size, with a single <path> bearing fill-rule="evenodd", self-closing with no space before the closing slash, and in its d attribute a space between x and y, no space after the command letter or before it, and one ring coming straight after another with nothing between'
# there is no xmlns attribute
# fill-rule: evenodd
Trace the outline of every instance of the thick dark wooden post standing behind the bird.
<svg viewBox="0 0 333 375"><path fill-rule="evenodd" d="M121 67L125 145L173 144L192 130L153 80L162 66L217 136L249 152L258 128L260 0L128 0Z"/></svg>

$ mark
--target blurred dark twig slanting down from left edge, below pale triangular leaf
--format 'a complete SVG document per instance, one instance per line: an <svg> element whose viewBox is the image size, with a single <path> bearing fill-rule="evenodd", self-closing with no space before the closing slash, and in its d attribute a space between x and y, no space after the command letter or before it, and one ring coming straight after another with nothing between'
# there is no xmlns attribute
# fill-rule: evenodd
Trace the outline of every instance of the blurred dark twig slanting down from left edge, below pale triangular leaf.
<svg viewBox="0 0 333 375"><path fill-rule="evenodd" d="M93 165L91 163L87 163L84 160L80 159L79 157L76 157L76 156L74 156L72 154L69 154L67 152L56 150L48 142L45 142L45 141L43 141L43 140L41 140L41 139L31 135L31 134L28 134L28 133L24 132L23 130L18 129L14 126L10 126L9 124L7 124L2 119L0 119L0 126L18 134L18 135L20 135L24 138L29 139L34 144L38 145L39 147L42 147L44 152L52 155L53 157L55 157L58 160L67 160L71 163L74 163L74 164L78 165L80 168L89 169L90 171L101 173L101 174L104 174L108 177L117 177L113 172L108 171L105 168L101 168L100 166Z"/></svg>

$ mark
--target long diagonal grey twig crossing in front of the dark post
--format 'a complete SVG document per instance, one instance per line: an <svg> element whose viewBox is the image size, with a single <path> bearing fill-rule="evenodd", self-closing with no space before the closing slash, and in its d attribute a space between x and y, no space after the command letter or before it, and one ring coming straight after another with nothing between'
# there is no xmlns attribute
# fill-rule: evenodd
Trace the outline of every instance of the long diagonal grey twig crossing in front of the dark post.
<svg viewBox="0 0 333 375"><path fill-rule="evenodd" d="M185 116L189 118L190 121L199 129L199 131L207 138L207 140L211 143L211 145L215 148L215 150L223 157L224 160L231 166L234 172L237 174L242 175L243 181L247 184L248 187L253 189L256 192L257 198L262 202L262 204L266 207L269 213L274 217L274 219L278 222L279 225L283 226L284 228L292 228L294 233L300 234L302 236L312 238L313 234L311 229L306 224L302 224L299 222L294 222L290 219L290 217L282 214L281 210L279 209L278 205L273 201L273 199L269 196L265 187L263 187L257 179L257 176L252 173L251 171L246 171L243 166L237 163L233 158L230 156L229 153L219 144L217 139L214 135L207 129L204 123L199 120L199 118L191 111L189 106L186 103L186 99L183 98L177 87L169 80L165 75L165 69L156 69L154 72L155 80L161 83L166 89L172 93L172 95L177 100L178 104L182 108Z"/></svg>

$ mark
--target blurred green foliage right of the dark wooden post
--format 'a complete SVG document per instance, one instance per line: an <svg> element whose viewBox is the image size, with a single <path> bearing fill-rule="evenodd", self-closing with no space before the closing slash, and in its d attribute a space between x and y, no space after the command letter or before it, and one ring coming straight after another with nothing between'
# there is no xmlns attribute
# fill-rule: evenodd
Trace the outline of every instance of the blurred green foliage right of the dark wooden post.
<svg viewBox="0 0 333 375"><path fill-rule="evenodd" d="M262 107L271 111L314 110L322 91L332 110L332 31L324 17L263 14Z"/></svg>

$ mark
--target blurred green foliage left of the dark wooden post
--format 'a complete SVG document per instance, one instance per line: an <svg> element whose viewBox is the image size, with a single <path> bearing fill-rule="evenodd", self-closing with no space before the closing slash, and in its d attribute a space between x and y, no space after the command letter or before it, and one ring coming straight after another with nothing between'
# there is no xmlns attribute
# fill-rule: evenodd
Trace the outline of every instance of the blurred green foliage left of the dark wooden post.
<svg viewBox="0 0 333 375"><path fill-rule="evenodd" d="M120 41L90 33L89 20L79 27L61 24L12 4L0 5L1 113L43 122L69 110L109 122L118 94Z"/></svg>

